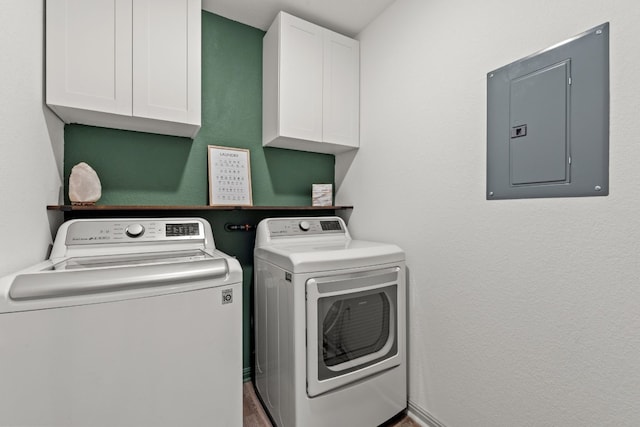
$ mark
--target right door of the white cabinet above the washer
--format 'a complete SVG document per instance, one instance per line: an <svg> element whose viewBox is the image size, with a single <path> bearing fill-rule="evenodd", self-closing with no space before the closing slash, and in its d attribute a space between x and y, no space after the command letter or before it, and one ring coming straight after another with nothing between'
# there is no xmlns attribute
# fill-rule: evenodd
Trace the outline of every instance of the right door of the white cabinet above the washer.
<svg viewBox="0 0 640 427"><path fill-rule="evenodd" d="M133 115L200 124L200 0L133 0Z"/></svg>

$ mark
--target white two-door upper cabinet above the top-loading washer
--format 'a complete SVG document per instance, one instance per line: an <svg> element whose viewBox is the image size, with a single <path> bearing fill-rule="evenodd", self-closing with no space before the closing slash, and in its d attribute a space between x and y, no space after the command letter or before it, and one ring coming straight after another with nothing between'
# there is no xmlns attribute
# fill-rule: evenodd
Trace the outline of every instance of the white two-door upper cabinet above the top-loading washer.
<svg viewBox="0 0 640 427"><path fill-rule="evenodd" d="M65 123L194 137L201 0L47 0L47 105Z"/></svg>

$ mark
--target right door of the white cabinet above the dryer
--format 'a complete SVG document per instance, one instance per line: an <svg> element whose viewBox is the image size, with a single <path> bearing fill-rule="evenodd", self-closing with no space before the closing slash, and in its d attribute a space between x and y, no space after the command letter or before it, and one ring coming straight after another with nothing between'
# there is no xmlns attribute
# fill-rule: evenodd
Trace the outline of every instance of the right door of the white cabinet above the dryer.
<svg viewBox="0 0 640 427"><path fill-rule="evenodd" d="M360 134L360 44L324 30L322 140L357 148Z"/></svg>

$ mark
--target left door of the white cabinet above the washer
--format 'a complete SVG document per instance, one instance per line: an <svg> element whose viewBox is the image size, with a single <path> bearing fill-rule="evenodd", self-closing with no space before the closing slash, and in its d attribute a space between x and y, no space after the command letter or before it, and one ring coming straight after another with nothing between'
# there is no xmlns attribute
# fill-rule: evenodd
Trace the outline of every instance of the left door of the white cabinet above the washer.
<svg viewBox="0 0 640 427"><path fill-rule="evenodd" d="M131 114L131 0L47 0L47 103Z"/></svg>

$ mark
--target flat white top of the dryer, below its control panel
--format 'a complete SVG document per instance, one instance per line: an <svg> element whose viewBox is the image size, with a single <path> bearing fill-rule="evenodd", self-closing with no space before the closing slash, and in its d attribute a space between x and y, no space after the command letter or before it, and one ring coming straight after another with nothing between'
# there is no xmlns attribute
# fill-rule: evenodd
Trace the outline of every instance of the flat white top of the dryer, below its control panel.
<svg viewBox="0 0 640 427"><path fill-rule="evenodd" d="M404 251L388 243L365 240L307 242L256 248L256 259L292 273L313 273L403 262Z"/></svg>

